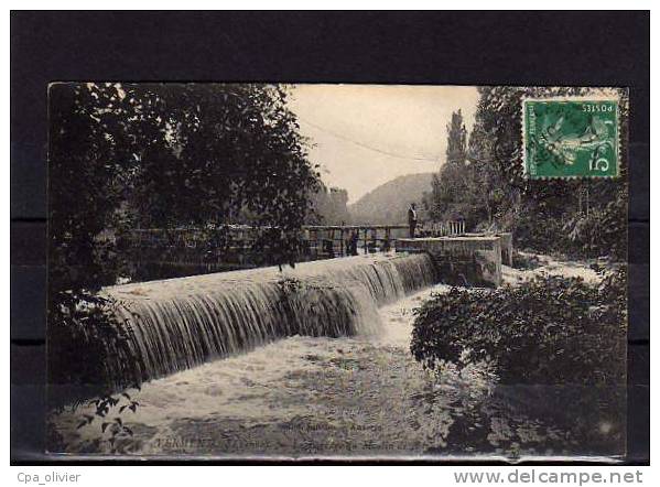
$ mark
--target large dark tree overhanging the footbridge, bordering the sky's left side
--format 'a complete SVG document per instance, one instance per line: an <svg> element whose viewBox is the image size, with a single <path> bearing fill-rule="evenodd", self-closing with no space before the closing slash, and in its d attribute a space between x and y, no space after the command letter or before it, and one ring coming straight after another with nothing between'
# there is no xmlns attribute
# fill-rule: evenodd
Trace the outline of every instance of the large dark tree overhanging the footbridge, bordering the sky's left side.
<svg viewBox="0 0 660 487"><path fill-rule="evenodd" d="M148 117L163 143L139 153L140 217L159 227L235 223L248 209L257 224L300 227L318 174L286 90L267 85L134 85L158 104Z"/></svg>

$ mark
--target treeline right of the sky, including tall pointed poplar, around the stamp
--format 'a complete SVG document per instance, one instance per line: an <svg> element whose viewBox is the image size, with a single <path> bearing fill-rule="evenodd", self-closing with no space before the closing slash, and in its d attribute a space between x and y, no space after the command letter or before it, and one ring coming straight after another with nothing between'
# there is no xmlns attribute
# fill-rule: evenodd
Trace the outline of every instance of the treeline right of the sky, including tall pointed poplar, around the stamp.
<svg viewBox="0 0 660 487"><path fill-rule="evenodd" d="M519 248L581 258L626 259L627 153L620 176L534 181L523 176L521 104L526 97L586 96L588 88L480 87L467 133L458 110L447 126L446 163L425 206L437 220L463 218L475 230L511 230ZM628 96L618 91L620 138Z"/></svg>

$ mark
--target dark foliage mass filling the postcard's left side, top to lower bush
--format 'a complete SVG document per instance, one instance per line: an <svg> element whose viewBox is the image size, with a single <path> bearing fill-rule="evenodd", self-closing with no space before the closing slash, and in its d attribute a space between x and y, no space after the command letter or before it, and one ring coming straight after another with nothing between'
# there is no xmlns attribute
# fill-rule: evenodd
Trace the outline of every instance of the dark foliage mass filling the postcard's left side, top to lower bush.
<svg viewBox="0 0 660 487"><path fill-rule="evenodd" d="M249 220L266 229L255 247L293 262L318 173L286 96L252 84L50 87L51 383L112 388L98 364L130 331L98 291L127 275L123 232ZM111 346L83 346L93 342Z"/></svg>

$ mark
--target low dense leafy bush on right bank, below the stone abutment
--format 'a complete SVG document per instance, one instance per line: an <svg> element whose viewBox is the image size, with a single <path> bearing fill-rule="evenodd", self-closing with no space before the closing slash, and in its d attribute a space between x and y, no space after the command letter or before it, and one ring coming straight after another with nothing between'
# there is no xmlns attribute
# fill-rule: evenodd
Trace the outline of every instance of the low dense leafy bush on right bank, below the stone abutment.
<svg viewBox="0 0 660 487"><path fill-rule="evenodd" d="M415 313L411 351L431 370L487 360L509 383L625 381L624 269L601 285L541 277L520 288L452 289Z"/></svg>

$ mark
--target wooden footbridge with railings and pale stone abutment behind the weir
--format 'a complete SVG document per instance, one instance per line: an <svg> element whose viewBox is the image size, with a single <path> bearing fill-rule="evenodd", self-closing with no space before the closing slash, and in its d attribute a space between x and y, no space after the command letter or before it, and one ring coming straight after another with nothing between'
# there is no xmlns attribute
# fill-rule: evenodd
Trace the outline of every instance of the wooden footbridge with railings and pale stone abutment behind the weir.
<svg viewBox="0 0 660 487"><path fill-rule="evenodd" d="M122 238L136 280L164 279L269 266L255 244L263 227L136 229ZM463 221L423 225L410 238L407 225L310 225L300 234L297 261L387 252L431 253L445 273L495 283L510 266L511 234L468 234ZM266 256L266 257L264 257Z"/></svg>

